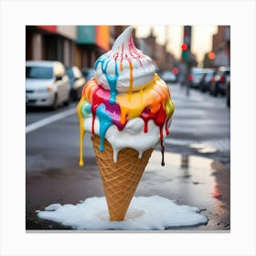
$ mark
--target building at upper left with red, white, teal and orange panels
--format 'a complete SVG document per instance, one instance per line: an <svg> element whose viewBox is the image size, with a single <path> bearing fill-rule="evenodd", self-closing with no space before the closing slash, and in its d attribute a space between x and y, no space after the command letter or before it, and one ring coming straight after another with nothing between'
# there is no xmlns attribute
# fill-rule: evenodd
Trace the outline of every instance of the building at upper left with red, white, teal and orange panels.
<svg viewBox="0 0 256 256"><path fill-rule="evenodd" d="M90 68L109 49L109 26L26 27L27 60L59 60L66 66Z"/></svg>

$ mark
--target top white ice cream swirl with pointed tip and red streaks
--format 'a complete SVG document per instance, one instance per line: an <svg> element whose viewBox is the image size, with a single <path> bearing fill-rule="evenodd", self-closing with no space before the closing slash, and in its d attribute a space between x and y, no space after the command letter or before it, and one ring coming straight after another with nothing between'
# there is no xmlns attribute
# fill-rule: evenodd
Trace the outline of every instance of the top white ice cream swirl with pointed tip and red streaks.
<svg viewBox="0 0 256 256"><path fill-rule="evenodd" d="M106 90L112 90L106 74L116 76L117 92L139 91L154 82L153 60L135 48L132 31L133 27L126 28L116 39L112 49L95 63L96 80Z"/></svg>

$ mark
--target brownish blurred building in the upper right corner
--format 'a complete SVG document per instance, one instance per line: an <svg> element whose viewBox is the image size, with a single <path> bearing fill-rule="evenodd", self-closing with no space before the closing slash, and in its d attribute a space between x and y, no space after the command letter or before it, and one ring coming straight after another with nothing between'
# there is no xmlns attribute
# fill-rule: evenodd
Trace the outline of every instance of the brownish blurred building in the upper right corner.
<svg viewBox="0 0 256 256"><path fill-rule="evenodd" d="M212 37L212 51L215 53L213 65L230 65L230 26L219 26L217 34Z"/></svg>

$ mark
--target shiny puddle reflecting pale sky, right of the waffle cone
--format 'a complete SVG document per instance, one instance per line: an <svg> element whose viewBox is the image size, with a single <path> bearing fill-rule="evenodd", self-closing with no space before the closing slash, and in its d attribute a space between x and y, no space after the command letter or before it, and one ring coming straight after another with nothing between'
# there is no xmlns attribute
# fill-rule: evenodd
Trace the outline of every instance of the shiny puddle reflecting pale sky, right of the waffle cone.
<svg viewBox="0 0 256 256"><path fill-rule="evenodd" d="M210 214L229 219L229 169L212 165L212 159L194 155L165 153L165 166L161 166L161 152L154 151L147 165L142 181L138 186L140 195L168 197L177 204L206 209ZM219 170L221 166L221 170ZM221 179L221 172L225 173ZM216 176L216 173L220 175ZM157 181L157 182L156 182ZM228 187L223 190L223 184ZM222 191L223 190L223 191ZM227 208L223 212L223 208Z"/></svg>

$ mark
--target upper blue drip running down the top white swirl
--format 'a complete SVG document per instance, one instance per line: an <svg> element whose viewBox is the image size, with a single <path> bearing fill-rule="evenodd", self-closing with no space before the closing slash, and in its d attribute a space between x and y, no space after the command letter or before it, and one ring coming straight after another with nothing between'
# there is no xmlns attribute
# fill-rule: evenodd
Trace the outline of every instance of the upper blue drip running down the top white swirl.
<svg viewBox="0 0 256 256"><path fill-rule="evenodd" d="M101 63L101 70L102 73L105 75L106 79L108 80L108 83L111 87L111 98L110 98L110 103L114 104L115 103L115 98L116 98L116 94L117 94L117 90L116 90L116 83L119 77L118 74L118 70L117 70L117 63L115 61L114 65L114 75L111 76L107 73L107 68L108 65L110 63L111 59L107 59L106 55L102 55L99 59L96 60L95 65L94 65L94 69L97 69L97 66L99 65L99 63Z"/></svg>

